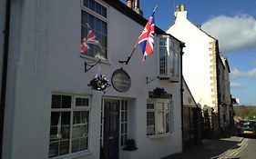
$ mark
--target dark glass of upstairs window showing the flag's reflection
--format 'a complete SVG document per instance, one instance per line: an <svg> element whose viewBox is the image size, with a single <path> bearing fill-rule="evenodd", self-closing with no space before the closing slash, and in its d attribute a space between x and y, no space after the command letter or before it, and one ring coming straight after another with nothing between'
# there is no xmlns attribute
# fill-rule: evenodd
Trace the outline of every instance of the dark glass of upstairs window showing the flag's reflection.
<svg viewBox="0 0 256 159"><path fill-rule="evenodd" d="M94 0L84 0L83 6L85 8L82 7L81 14L81 39L87 38L88 32L93 31L95 34L93 40L97 40L99 45L87 42L88 49L82 55L107 60L107 8ZM93 11L93 13L88 13L86 8Z"/></svg>

